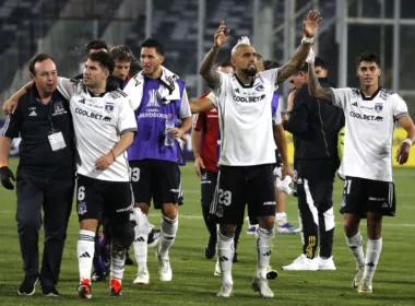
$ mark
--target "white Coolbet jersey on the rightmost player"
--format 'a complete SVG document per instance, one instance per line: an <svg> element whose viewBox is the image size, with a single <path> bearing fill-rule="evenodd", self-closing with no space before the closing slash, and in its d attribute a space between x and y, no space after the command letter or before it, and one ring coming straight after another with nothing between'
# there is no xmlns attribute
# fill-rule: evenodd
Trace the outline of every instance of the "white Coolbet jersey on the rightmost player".
<svg viewBox="0 0 415 306"><path fill-rule="evenodd" d="M364 97L358 89L331 89L333 105L346 118L344 156L340 174L392 181L392 140L395 121L408 116L405 102L380 89Z"/></svg>

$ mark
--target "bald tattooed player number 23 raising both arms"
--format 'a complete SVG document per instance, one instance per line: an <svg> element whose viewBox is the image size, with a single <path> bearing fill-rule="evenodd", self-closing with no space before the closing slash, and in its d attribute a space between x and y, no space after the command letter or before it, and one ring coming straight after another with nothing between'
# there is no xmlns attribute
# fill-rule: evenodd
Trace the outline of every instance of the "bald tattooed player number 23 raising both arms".
<svg viewBox="0 0 415 306"><path fill-rule="evenodd" d="M249 39L242 38L232 50L235 74L213 69L221 47L230 30L222 22L214 45L200 66L199 73L214 91L220 110L220 175L211 213L217 217L217 249L222 286L217 296L233 295L232 258L236 225L244 222L245 204L259 220L257 237L257 275L252 289L271 298L274 293L266 281L274 237L275 190L272 164L275 163L271 102L276 83L285 81L303 67L320 23L317 11L309 12L303 28L305 38L293 58L280 69L257 73L257 54ZM199 103L210 107L211 101ZM203 105L202 105L203 106Z"/></svg>

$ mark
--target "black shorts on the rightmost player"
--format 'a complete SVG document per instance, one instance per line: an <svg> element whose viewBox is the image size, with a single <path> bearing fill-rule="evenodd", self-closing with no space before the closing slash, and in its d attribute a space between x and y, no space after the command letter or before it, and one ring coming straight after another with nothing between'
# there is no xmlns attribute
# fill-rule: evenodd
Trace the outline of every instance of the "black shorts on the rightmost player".
<svg viewBox="0 0 415 306"><path fill-rule="evenodd" d="M395 210L395 186L392 181L346 176L341 213L360 217L366 217L367 212L394 216Z"/></svg>

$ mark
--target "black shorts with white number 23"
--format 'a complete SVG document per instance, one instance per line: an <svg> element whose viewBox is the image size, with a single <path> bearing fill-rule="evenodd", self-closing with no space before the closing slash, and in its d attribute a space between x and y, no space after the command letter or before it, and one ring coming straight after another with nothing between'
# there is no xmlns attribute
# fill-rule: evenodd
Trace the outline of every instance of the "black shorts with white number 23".
<svg viewBox="0 0 415 306"><path fill-rule="evenodd" d="M250 217L275 214L272 164L221 166L211 214L220 224L242 224L247 203Z"/></svg>

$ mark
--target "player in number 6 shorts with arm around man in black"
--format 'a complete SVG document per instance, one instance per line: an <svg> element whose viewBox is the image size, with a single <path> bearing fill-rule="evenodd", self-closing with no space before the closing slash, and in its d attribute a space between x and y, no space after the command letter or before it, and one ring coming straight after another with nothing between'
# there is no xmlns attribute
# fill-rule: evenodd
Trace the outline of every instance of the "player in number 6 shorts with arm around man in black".
<svg viewBox="0 0 415 306"><path fill-rule="evenodd" d="M93 52L85 62L83 82L59 78L58 83L58 91L70 101L79 155L76 291L81 298L92 297L91 269L99 213L107 217L112 237L109 295L122 295L126 250L134 239L130 222L132 192L123 153L133 141L137 122L127 94L119 90L106 92L112 70L114 61L107 52ZM12 99L20 98L27 86L32 84Z"/></svg>

